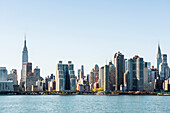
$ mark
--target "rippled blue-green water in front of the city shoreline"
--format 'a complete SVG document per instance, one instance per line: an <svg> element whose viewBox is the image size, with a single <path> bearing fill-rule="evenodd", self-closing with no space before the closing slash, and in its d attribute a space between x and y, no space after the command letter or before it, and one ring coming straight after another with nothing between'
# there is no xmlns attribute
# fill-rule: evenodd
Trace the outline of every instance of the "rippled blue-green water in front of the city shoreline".
<svg viewBox="0 0 170 113"><path fill-rule="evenodd" d="M168 113L169 96L0 96L4 113Z"/></svg>

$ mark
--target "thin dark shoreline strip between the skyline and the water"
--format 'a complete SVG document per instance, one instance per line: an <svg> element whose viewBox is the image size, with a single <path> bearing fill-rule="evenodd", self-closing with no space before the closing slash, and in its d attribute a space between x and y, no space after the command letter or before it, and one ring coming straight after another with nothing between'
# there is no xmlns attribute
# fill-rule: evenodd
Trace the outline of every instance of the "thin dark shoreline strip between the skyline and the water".
<svg viewBox="0 0 170 113"><path fill-rule="evenodd" d="M58 96L76 96L76 95L94 95L94 96L170 96L170 92L0 92L0 96L15 96L15 95L58 95Z"/></svg>

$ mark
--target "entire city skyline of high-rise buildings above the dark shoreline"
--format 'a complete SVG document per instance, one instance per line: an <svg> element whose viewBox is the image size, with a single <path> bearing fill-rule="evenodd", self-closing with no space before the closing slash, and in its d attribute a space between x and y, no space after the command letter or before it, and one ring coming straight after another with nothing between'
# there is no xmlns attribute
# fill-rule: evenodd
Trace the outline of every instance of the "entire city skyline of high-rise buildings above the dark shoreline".
<svg viewBox="0 0 170 113"><path fill-rule="evenodd" d="M26 39L22 51L22 71L20 86L18 85L17 70L12 69L8 74L5 67L0 67L0 91L170 91L170 69L167 54L161 54L158 44L155 68L150 62L144 62L139 56L125 59L117 52L112 61L102 67L97 64L90 74L85 76L84 66L78 69L75 76L74 64L69 61L63 64L59 61L56 76L51 74L43 79L40 68L32 69L28 62Z"/></svg>

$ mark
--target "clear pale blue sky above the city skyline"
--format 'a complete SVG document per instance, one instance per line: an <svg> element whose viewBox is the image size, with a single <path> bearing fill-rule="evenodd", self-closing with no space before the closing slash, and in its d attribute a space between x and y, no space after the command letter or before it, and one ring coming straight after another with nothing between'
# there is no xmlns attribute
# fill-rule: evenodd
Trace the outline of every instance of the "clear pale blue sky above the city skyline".
<svg viewBox="0 0 170 113"><path fill-rule="evenodd" d="M170 53L170 1L0 0L0 66L19 78L25 32L29 61L43 77L56 74L59 60L87 74L117 51L154 65L158 41Z"/></svg>

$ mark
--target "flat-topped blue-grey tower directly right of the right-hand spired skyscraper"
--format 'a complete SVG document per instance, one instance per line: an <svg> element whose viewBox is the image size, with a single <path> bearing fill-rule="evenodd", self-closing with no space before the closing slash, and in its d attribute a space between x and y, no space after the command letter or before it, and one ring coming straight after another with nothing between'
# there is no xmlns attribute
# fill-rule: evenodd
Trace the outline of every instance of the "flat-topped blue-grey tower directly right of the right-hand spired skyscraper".
<svg viewBox="0 0 170 113"><path fill-rule="evenodd" d="M167 63L167 55L163 54L162 55L162 63L159 65L159 75L160 75L160 79L164 80L167 79L169 77L169 66Z"/></svg>

